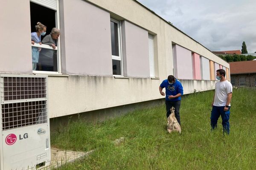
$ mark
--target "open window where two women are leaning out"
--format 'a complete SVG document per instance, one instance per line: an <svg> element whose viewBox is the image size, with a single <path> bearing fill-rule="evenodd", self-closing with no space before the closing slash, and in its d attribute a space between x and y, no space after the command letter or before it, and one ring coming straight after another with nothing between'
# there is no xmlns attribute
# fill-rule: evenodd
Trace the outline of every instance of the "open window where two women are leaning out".
<svg viewBox="0 0 256 170"><path fill-rule="evenodd" d="M58 28L57 22L57 7L58 0L30 0L30 20L31 32L36 32L35 25L37 22L47 26L45 36L41 36L41 42L50 34L52 28ZM52 37L49 35L48 37ZM47 38L46 38L47 39ZM52 41L44 41L44 44L39 45L35 43L32 45L32 51L38 49L39 56L36 59L36 68L33 70L35 73L60 73L60 56L59 56L59 42L58 38L51 39ZM55 49L52 47L52 42L55 44ZM33 54L32 54L33 55Z"/></svg>

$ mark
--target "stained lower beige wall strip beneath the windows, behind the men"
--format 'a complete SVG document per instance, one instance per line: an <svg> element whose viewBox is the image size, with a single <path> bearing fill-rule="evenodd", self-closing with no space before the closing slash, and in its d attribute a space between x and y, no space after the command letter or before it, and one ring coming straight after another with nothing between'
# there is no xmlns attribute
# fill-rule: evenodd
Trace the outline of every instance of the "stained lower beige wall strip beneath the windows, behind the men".
<svg viewBox="0 0 256 170"><path fill-rule="evenodd" d="M167 78L167 77L166 77ZM161 99L162 80L99 76L48 77L50 118ZM214 89L215 81L180 80L184 94ZM165 89L163 90L165 91Z"/></svg>

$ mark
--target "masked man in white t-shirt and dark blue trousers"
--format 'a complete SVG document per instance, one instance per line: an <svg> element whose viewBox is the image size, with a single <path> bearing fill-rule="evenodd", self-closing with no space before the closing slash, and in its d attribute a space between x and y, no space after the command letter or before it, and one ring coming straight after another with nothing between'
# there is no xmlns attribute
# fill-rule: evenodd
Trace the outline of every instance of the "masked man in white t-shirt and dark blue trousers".
<svg viewBox="0 0 256 170"><path fill-rule="evenodd" d="M232 85L225 79L226 72L223 69L216 71L216 78L220 81L215 84L215 94L212 101L211 126L217 127L219 116L222 119L223 133L230 133L230 102L232 99Z"/></svg>

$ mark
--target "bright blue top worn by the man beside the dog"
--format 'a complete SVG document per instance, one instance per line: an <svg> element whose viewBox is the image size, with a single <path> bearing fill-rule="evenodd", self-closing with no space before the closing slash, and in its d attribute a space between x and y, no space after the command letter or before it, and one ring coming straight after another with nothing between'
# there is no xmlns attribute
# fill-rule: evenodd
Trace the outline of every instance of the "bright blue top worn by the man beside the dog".
<svg viewBox="0 0 256 170"><path fill-rule="evenodd" d="M174 99L169 99L168 98L169 95L175 96L176 94L179 94L179 93L181 95L183 95L183 87L177 79L175 79L175 82L172 85L170 85L168 80L165 79L160 84L160 87L161 88L166 88L166 100L167 101L175 102L175 101L181 100L181 97L177 97L177 98L174 98Z"/></svg>

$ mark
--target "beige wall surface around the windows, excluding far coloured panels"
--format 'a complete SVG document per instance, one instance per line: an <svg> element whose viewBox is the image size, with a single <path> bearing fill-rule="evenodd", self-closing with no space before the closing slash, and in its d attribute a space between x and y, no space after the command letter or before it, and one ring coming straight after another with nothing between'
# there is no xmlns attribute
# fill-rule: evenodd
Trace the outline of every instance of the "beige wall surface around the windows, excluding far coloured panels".
<svg viewBox="0 0 256 170"><path fill-rule="evenodd" d="M227 62L134 0L60 0L59 9L62 73L69 75L49 76L51 118L162 99L159 85L173 74L172 43L230 68ZM110 17L121 20L127 28L128 79L112 75ZM32 74L29 18L29 0L0 1L0 31L5 33L0 41L1 73ZM141 78L149 77L145 45L148 33L154 35L155 72L159 79ZM141 58L137 60L138 56ZM213 89L215 84L214 79L180 82L184 94Z"/></svg>

